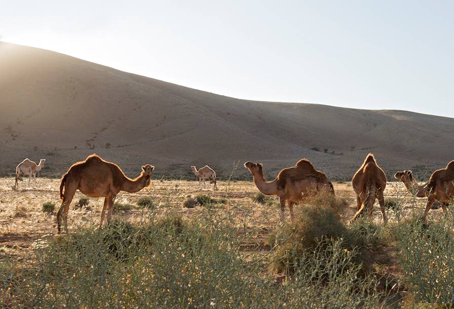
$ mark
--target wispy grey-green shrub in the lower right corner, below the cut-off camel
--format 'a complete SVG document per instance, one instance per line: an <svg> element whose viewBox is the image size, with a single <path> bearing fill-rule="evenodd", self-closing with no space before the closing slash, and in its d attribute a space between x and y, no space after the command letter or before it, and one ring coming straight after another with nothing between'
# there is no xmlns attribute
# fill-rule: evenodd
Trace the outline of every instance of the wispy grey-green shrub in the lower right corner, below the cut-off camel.
<svg viewBox="0 0 454 309"><path fill-rule="evenodd" d="M414 218L395 226L398 259L415 302L454 302L453 231L452 218L430 224Z"/></svg>

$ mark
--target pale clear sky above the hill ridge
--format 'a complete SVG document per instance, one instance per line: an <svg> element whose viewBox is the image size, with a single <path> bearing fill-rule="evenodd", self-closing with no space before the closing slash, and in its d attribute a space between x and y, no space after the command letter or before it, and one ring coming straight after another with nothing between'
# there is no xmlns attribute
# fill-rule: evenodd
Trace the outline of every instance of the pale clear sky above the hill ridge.
<svg viewBox="0 0 454 309"><path fill-rule="evenodd" d="M452 1L6 1L0 40L220 95L454 117Z"/></svg>

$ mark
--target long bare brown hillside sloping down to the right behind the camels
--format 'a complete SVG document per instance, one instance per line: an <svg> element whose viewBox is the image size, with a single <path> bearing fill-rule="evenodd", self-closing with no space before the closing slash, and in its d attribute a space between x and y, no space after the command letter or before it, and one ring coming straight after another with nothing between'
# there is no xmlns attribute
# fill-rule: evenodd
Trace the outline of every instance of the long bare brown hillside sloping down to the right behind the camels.
<svg viewBox="0 0 454 309"><path fill-rule="evenodd" d="M94 152L131 176L152 163L157 175L209 164L225 177L249 160L270 179L301 157L332 179L350 179L368 152L389 174L454 158L452 118L234 99L1 42L0 94L4 174L45 157L43 175L59 175Z"/></svg>

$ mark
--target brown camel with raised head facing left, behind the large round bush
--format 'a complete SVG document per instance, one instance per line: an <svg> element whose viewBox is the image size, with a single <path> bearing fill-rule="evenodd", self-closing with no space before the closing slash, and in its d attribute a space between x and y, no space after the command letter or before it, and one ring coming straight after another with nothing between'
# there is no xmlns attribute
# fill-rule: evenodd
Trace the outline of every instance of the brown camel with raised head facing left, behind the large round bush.
<svg viewBox="0 0 454 309"><path fill-rule="evenodd" d="M308 159L299 160L295 166L282 169L275 180L268 182L262 170L261 163L244 163L252 174L257 189L266 195L277 195L281 206L280 222L284 222L285 202L290 211L290 221L293 223L293 204L313 197L325 191L334 194L332 183L326 175L314 168Z"/></svg>

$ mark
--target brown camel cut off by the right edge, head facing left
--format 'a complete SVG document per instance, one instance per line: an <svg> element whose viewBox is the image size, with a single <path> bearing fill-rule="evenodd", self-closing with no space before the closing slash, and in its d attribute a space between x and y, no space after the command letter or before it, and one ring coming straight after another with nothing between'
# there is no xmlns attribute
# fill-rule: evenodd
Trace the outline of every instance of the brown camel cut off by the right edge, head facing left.
<svg viewBox="0 0 454 309"><path fill-rule="evenodd" d="M414 180L411 170L397 172L395 178L400 179L410 192L415 192L418 197L427 197L427 205L422 221L426 220L427 213L435 200L439 201L441 208L446 215L449 201L454 198L454 160L450 161L445 168L437 169L430 176L429 182L418 186Z"/></svg>

